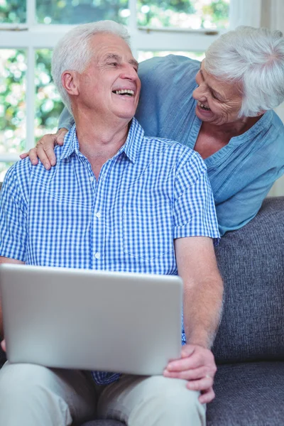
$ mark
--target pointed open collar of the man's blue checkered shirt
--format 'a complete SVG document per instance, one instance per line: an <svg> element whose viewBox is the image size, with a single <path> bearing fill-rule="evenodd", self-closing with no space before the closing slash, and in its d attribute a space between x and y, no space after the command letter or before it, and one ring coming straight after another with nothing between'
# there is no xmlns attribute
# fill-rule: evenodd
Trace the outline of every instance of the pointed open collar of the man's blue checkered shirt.
<svg viewBox="0 0 284 426"><path fill-rule="evenodd" d="M144 131L138 121L133 118L131 121L131 126L129 128L129 134L127 136L124 146L121 146L120 150L116 155L124 152L129 160L132 163L135 163L138 152L140 150L141 142L143 141ZM72 126L70 131L66 134L64 138L64 144L62 146L62 151L59 160L70 157L72 153L77 155L82 155L79 151L79 142L77 139L76 126Z"/></svg>

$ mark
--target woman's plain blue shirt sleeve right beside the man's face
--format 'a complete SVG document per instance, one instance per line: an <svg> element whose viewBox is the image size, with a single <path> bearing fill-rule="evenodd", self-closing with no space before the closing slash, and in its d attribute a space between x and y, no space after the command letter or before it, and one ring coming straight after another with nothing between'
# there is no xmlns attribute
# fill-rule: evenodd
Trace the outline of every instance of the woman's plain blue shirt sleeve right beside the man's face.
<svg viewBox="0 0 284 426"><path fill-rule="evenodd" d="M182 141L183 129L177 138L176 128L187 120L190 107L195 109L191 94L199 67L200 62L179 55L155 57L139 64L141 93L136 119L146 136ZM181 111L186 111L186 116Z"/></svg>

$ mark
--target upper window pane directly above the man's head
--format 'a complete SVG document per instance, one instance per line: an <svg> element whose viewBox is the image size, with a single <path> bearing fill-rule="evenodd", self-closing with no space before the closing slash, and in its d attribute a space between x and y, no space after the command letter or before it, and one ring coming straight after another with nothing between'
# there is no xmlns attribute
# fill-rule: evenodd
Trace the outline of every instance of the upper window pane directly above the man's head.
<svg viewBox="0 0 284 426"><path fill-rule="evenodd" d="M36 0L39 23L79 24L102 19L127 23L128 0Z"/></svg>

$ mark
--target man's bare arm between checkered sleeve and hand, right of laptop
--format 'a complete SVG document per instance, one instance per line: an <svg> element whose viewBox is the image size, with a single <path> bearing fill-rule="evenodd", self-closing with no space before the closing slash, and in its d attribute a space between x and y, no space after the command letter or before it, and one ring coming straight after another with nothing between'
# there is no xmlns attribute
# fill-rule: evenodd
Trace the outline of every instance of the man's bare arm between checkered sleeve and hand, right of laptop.
<svg viewBox="0 0 284 426"><path fill-rule="evenodd" d="M178 274L184 283L187 343L210 349L222 311L223 283L212 239L195 236L175 240Z"/></svg>

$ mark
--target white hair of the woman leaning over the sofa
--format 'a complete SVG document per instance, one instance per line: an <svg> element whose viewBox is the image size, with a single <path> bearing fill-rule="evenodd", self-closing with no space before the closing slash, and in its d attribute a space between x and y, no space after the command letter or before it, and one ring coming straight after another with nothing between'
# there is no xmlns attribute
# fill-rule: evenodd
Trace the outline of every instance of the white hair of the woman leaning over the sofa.
<svg viewBox="0 0 284 426"><path fill-rule="evenodd" d="M241 84L239 117L257 116L284 100L284 38L281 31L240 26L217 38L204 67L219 80Z"/></svg>

